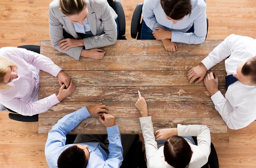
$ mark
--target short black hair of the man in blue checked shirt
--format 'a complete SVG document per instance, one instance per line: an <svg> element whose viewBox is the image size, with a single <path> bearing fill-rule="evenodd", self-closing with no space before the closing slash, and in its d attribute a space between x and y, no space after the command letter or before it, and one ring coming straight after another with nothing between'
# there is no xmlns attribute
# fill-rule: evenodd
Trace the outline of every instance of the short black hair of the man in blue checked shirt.
<svg viewBox="0 0 256 168"><path fill-rule="evenodd" d="M84 150L77 145L65 149L58 157L58 168L86 168L89 159L85 156Z"/></svg>

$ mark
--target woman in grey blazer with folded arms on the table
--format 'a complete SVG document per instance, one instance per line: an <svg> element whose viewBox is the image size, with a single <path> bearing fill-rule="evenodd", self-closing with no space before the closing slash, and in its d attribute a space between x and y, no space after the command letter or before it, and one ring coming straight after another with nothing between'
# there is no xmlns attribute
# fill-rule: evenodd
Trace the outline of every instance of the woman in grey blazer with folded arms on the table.
<svg viewBox="0 0 256 168"><path fill-rule="evenodd" d="M102 59L105 51L98 48L116 43L116 18L107 0L54 0L49 6L52 46L76 60Z"/></svg>

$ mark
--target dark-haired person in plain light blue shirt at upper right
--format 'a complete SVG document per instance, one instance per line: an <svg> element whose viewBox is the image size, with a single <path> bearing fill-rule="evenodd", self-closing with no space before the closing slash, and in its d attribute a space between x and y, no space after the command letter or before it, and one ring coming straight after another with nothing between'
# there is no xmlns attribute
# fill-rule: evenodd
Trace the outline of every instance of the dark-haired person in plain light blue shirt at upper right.
<svg viewBox="0 0 256 168"><path fill-rule="evenodd" d="M168 51L177 43L203 43L207 34L204 0L145 0L141 40L162 40Z"/></svg>

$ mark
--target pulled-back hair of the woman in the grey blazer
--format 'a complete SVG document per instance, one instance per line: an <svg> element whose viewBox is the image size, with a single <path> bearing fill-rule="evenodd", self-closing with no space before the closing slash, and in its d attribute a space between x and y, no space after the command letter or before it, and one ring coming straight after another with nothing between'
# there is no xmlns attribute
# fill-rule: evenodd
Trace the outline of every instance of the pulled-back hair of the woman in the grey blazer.
<svg viewBox="0 0 256 168"><path fill-rule="evenodd" d="M64 15L69 16L79 14L84 7L87 7L86 0L60 0L61 11Z"/></svg>

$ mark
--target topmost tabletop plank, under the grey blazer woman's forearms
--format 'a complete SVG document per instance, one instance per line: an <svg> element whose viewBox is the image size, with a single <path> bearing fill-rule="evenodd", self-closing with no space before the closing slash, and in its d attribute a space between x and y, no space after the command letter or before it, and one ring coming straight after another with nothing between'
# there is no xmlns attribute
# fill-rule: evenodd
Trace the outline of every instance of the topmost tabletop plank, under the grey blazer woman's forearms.
<svg viewBox="0 0 256 168"><path fill-rule="evenodd" d="M208 55L223 40L205 40L201 44L177 43L178 50L175 52L166 51L160 40L117 40L111 46L102 47L108 55ZM54 48L50 40L41 40L40 53L48 55L67 54L61 53Z"/></svg>

